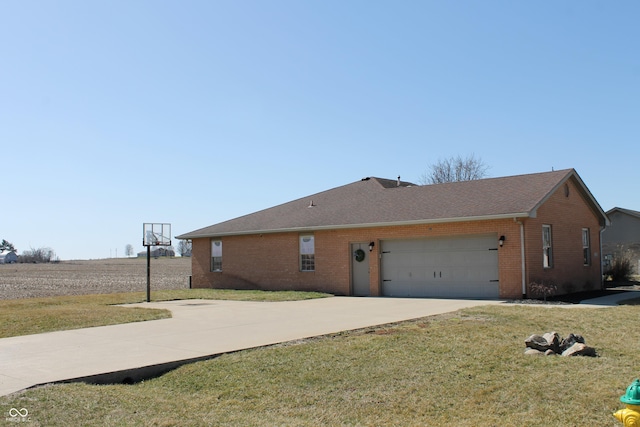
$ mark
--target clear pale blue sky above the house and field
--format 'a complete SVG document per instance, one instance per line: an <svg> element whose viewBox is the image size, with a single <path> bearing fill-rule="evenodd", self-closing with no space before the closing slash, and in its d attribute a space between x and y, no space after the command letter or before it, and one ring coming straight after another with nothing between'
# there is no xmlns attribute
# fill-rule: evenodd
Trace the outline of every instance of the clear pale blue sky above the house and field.
<svg viewBox="0 0 640 427"><path fill-rule="evenodd" d="M63 259L475 154L640 210L637 1L0 1L0 239ZM174 241L175 243L175 241Z"/></svg>

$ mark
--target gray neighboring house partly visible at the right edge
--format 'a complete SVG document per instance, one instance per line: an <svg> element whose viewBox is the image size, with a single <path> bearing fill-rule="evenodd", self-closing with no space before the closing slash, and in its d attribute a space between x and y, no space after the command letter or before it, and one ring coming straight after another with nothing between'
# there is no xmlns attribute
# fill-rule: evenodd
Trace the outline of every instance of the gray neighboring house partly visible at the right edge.
<svg viewBox="0 0 640 427"><path fill-rule="evenodd" d="M640 273L640 212L613 208L607 212L607 216L611 226L602 233L605 265L608 266L616 254L628 251L636 273Z"/></svg>

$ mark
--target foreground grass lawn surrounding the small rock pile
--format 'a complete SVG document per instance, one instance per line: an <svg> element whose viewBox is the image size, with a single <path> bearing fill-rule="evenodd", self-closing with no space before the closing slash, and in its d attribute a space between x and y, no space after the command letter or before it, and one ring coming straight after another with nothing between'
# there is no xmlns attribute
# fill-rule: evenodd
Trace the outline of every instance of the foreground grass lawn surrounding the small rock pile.
<svg viewBox="0 0 640 427"><path fill-rule="evenodd" d="M223 355L135 385L54 385L0 398L42 426L614 426L640 376L640 308L466 309ZM597 358L524 356L571 332Z"/></svg>

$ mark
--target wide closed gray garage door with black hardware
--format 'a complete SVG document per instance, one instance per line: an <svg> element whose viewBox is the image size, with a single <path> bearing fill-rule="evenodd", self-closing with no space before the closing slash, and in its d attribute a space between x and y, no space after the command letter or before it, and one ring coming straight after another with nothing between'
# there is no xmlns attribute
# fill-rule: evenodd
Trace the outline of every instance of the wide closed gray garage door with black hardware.
<svg viewBox="0 0 640 427"><path fill-rule="evenodd" d="M385 240L381 249L385 296L499 296L497 235Z"/></svg>

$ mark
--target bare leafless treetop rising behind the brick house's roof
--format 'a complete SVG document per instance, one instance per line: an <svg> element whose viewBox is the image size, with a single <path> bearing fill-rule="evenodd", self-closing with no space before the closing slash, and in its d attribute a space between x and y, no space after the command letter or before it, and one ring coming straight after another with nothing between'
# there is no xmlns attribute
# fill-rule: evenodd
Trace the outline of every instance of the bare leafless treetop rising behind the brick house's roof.
<svg viewBox="0 0 640 427"><path fill-rule="evenodd" d="M443 182L472 181L487 176L489 166L484 161L471 154L465 158L461 156L439 160L429 166L418 180L420 184L442 184Z"/></svg>

